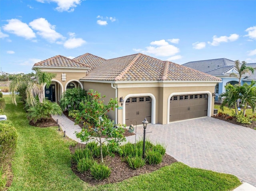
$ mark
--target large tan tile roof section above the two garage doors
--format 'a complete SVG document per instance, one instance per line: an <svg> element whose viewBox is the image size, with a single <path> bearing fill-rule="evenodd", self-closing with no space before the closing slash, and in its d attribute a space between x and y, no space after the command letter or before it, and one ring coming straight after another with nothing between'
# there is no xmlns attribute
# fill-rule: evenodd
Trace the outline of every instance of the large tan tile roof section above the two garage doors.
<svg viewBox="0 0 256 191"><path fill-rule="evenodd" d="M108 59L81 80L96 81L220 81L221 79L141 53Z"/></svg>

